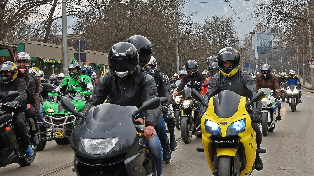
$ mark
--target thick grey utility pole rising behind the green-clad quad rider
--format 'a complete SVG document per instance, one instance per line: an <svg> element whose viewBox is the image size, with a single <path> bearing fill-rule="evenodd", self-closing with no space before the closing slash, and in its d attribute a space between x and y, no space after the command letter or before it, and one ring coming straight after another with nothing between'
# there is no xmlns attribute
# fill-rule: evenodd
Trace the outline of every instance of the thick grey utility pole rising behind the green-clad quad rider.
<svg viewBox="0 0 314 176"><path fill-rule="evenodd" d="M68 37L67 37L67 4L62 0L62 69L63 74L68 75Z"/></svg>

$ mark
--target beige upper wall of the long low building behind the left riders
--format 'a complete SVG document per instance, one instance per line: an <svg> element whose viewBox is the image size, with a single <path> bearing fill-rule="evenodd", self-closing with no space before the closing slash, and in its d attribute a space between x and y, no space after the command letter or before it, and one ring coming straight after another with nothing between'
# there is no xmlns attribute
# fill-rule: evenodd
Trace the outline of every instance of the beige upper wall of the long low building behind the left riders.
<svg viewBox="0 0 314 176"><path fill-rule="evenodd" d="M30 54L31 57L62 60L61 45L47 44L35 41L23 41L19 43L25 43L24 52ZM71 58L74 57L74 53L77 53L74 48L68 47L68 63L71 62ZM107 53L90 50L84 50L83 53L86 53L86 62L90 61L91 63L108 65Z"/></svg>

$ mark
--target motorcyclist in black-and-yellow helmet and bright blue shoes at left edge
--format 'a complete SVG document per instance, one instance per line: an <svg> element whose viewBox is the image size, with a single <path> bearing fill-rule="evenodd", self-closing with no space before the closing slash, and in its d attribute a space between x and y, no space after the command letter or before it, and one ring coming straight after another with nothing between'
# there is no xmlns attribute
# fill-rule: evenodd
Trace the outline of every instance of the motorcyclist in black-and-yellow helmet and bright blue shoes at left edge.
<svg viewBox="0 0 314 176"><path fill-rule="evenodd" d="M19 96L17 97L7 97L3 102L10 102L10 107L18 107L22 105L23 108L18 108L15 110L8 110L11 113L14 112L14 127L15 131L21 138L21 147L25 149L26 156L29 157L33 155L33 149L30 146L30 137L27 134L25 128L26 120L26 99L27 99L27 85L26 82L17 78L18 68L13 62L4 62L0 65L0 99L8 95L9 91L18 91Z"/></svg>

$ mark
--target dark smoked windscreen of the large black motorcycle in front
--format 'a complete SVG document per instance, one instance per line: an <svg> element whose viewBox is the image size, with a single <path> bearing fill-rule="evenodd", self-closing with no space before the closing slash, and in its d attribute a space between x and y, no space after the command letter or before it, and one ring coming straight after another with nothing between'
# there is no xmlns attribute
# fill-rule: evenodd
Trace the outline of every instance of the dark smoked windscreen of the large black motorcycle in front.
<svg viewBox="0 0 314 176"><path fill-rule="evenodd" d="M91 107L86 114L86 127L93 132L110 131L117 127L125 118L131 118L129 116L135 110L137 110L135 106L124 107L107 103Z"/></svg>

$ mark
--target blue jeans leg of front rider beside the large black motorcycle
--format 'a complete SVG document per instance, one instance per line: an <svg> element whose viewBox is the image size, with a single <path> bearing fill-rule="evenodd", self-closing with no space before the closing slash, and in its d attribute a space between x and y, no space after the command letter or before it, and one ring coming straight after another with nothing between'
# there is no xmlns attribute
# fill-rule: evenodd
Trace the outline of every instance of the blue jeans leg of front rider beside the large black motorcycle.
<svg viewBox="0 0 314 176"><path fill-rule="evenodd" d="M163 148L161 148L157 133L153 138L148 138L147 147L155 159L157 176L160 176L163 173Z"/></svg>

